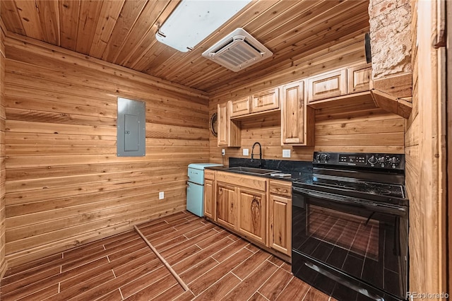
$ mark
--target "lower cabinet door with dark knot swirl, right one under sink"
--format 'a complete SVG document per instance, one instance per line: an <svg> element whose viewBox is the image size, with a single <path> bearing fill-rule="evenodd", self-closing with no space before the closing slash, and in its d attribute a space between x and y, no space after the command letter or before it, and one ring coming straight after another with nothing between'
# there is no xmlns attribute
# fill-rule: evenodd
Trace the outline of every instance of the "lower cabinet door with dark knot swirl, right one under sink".
<svg viewBox="0 0 452 301"><path fill-rule="evenodd" d="M256 242L266 243L266 194L239 188L237 230Z"/></svg>

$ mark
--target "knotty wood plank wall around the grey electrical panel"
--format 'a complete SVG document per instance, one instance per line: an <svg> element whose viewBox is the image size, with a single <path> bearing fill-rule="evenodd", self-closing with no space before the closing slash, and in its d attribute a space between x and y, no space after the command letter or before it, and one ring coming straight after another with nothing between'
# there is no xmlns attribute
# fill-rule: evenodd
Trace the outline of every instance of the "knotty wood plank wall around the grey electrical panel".
<svg viewBox="0 0 452 301"><path fill-rule="evenodd" d="M18 35L5 48L8 265L184 210L207 95ZM116 156L118 96L145 102L145 157Z"/></svg>

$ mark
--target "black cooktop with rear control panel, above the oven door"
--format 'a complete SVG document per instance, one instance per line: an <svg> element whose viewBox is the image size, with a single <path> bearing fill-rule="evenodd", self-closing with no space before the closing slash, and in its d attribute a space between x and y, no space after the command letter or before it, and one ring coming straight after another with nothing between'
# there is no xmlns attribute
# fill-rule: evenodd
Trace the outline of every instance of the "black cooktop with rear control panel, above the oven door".
<svg viewBox="0 0 452 301"><path fill-rule="evenodd" d="M408 206L403 154L314 152L312 163L311 177L293 187Z"/></svg>

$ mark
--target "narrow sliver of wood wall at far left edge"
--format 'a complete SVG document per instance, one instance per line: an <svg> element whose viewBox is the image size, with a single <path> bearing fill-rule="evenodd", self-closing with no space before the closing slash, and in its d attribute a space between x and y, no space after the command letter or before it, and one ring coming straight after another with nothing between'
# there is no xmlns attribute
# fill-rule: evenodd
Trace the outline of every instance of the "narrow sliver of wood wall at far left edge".
<svg viewBox="0 0 452 301"><path fill-rule="evenodd" d="M4 80L5 80L5 33L3 22L0 20L0 279L6 272L6 238L5 238L5 180L6 180L6 165L5 165L5 107L4 107Z"/></svg>

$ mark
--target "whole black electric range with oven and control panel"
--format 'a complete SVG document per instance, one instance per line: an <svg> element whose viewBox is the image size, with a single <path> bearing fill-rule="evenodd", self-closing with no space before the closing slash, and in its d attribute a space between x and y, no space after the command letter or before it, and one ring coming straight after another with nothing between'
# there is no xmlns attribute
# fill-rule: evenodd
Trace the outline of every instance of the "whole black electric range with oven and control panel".
<svg viewBox="0 0 452 301"><path fill-rule="evenodd" d="M338 300L406 300L403 154L314 153L292 183L292 273Z"/></svg>

